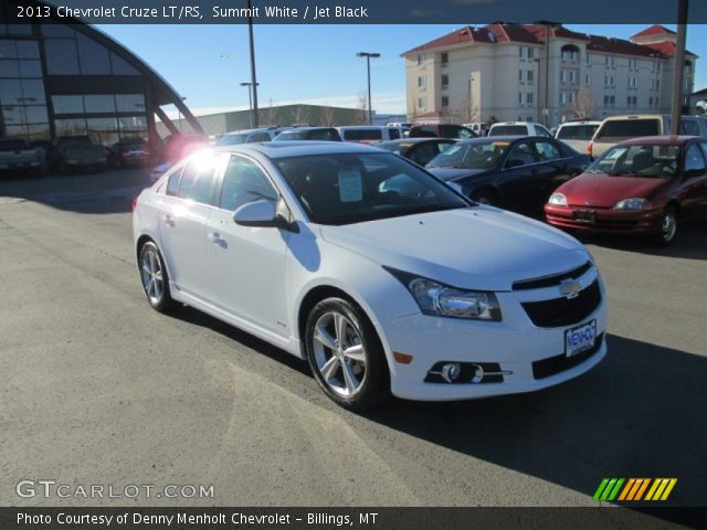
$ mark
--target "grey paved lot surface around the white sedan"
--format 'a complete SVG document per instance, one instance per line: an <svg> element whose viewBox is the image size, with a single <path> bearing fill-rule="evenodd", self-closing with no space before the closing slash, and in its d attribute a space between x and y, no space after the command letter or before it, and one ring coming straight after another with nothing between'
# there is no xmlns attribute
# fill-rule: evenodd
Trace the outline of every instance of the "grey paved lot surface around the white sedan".
<svg viewBox="0 0 707 530"><path fill-rule="evenodd" d="M677 477L674 502L705 504L707 227L669 251L588 241L610 353L579 380L359 416L286 353L149 309L129 213L143 181L0 182L0 505L127 504L17 497L42 478L214 486L145 505L592 505L602 477Z"/></svg>

